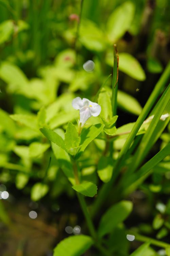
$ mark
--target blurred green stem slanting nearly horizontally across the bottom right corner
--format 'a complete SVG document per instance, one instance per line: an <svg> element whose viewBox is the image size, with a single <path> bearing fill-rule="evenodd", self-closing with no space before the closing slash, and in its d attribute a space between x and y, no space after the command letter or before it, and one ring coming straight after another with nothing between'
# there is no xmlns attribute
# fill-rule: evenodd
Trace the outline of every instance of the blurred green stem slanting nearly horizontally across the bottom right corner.
<svg viewBox="0 0 170 256"><path fill-rule="evenodd" d="M159 246L159 247L163 247L163 248L166 248L166 247L170 246L170 244L168 244L168 243L165 243L165 242L162 242L162 241L158 241L158 240L150 238L150 237L139 235L138 233L133 232L131 230L129 231L129 234L134 235L135 239L137 241L140 241L140 242L150 242L153 245L156 245L156 246Z"/></svg>

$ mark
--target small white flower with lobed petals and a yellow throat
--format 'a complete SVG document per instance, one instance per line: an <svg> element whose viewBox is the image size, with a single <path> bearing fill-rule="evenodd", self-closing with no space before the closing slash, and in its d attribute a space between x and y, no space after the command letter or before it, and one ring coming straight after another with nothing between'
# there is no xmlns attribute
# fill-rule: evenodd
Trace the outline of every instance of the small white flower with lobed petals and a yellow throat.
<svg viewBox="0 0 170 256"><path fill-rule="evenodd" d="M83 126L91 116L97 117L101 112L101 106L99 104L89 101L86 98L82 100L80 97L76 97L72 101L72 106L74 109L80 110L81 126Z"/></svg>

